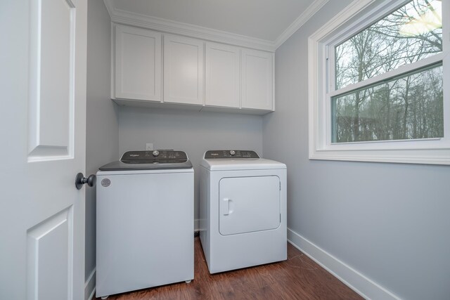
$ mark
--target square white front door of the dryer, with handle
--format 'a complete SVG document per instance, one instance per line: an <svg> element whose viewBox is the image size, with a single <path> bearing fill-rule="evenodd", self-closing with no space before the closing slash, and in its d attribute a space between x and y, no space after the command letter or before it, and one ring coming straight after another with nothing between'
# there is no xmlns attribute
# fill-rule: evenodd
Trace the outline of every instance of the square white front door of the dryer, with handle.
<svg viewBox="0 0 450 300"><path fill-rule="evenodd" d="M219 232L236 235L280 226L280 178L222 178L219 182Z"/></svg>

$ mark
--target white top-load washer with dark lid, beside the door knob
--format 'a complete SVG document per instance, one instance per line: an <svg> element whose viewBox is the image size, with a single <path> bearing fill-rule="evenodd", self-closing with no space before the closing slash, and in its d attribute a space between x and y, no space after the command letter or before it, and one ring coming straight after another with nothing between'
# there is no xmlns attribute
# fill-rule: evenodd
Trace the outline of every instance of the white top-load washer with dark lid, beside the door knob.
<svg viewBox="0 0 450 300"><path fill-rule="evenodd" d="M97 297L194 278L193 180L182 151L129 151L100 168Z"/></svg>

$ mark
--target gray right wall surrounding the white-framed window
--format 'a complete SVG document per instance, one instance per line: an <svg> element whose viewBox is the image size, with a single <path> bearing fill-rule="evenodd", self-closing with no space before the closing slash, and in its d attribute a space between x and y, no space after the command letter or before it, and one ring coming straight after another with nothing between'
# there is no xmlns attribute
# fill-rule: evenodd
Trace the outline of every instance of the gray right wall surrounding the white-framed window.
<svg viewBox="0 0 450 300"><path fill-rule="evenodd" d="M288 166L291 230L402 299L449 299L450 167L308 159L307 39L349 2L329 1L276 51L264 156Z"/></svg>

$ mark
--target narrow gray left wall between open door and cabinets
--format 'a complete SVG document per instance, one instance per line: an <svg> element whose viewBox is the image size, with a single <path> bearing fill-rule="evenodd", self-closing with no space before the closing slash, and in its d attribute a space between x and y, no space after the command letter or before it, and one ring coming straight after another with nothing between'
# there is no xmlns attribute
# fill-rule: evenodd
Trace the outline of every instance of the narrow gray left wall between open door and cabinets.
<svg viewBox="0 0 450 300"><path fill-rule="evenodd" d="M117 105L110 100L110 15L100 0L88 1L86 174L117 159ZM85 174L85 175L86 175ZM86 263L88 279L96 267L96 195L86 188Z"/></svg>

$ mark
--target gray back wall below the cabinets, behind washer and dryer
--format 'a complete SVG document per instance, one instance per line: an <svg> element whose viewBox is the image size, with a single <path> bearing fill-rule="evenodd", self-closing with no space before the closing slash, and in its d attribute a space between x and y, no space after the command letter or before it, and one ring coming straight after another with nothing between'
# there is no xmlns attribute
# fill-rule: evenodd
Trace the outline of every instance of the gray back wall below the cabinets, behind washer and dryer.
<svg viewBox="0 0 450 300"><path fill-rule="evenodd" d="M212 149L250 149L262 155L262 117L218 112L120 107L120 153L155 149L184 150L194 167L195 219L198 212L198 174L203 153Z"/></svg>

